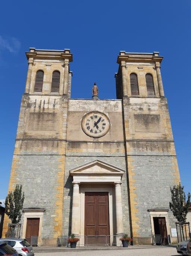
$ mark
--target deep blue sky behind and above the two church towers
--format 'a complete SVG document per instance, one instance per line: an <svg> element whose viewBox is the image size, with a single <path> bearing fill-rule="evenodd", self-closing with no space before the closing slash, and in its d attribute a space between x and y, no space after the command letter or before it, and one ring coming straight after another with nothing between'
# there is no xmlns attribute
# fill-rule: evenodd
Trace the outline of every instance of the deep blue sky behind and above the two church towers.
<svg viewBox="0 0 191 256"><path fill-rule="evenodd" d="M120 50L160 51L162 77L185 192L191 191L191 1L1 1L0 199L7 194L21 96L25 51L70 48L72 97L115 99Z"/></svg>

